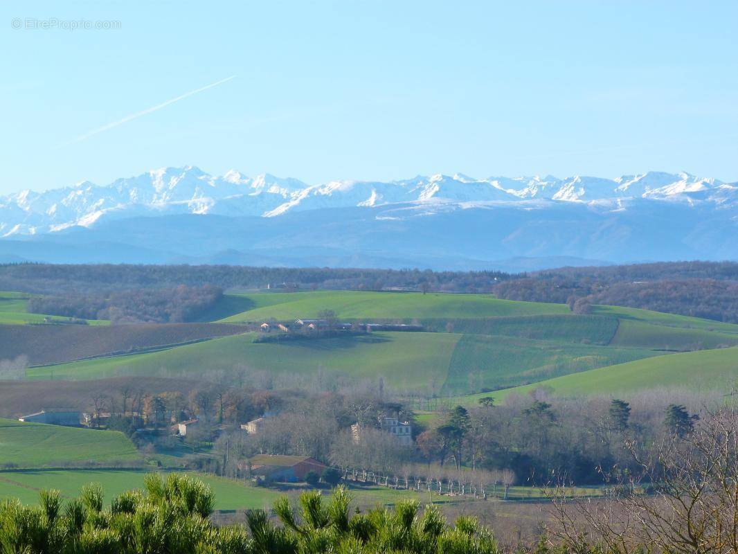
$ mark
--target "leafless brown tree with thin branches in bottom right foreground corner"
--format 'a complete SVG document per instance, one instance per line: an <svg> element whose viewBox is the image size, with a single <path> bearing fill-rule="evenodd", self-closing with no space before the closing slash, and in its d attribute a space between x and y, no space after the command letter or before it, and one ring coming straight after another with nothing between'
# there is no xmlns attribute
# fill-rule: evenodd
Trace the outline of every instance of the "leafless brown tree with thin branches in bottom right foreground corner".
<svg viewBox="0 0 738 554"><path fill-rule="evenodd" d="M556 539L589 552L626 554L636 545L683 554L738 552L738 412L722 408L694 431L665 437L643 454L629 442L639 474L613 471L604 500L554 491Z"/></svg>

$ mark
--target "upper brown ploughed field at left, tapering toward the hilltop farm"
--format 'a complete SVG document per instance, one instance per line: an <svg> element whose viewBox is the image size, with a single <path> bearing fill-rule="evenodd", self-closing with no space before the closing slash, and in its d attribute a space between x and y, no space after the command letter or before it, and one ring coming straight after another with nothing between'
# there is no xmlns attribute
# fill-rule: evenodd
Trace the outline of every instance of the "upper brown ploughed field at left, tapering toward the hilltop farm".
<svg viewBox="0 0 738 554"><path fill-rule="evenodd" d="M228 324L3 325L0 360L24 355L35 366L141 352L245 331L243 326Z"/></svg>

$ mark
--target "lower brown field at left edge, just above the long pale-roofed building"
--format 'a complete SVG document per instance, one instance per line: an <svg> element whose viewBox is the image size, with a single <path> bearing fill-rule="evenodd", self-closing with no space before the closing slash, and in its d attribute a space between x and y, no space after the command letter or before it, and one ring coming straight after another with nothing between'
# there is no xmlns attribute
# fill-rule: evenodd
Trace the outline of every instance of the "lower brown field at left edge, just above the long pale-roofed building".
<svg viewBox="0 0 738 554"><path fill-rule="evenodd" d="M201 383L165 377L111 377L89 381L1 380L0 417L15 418L44 408L92 409L97 394L120 397L126 386L147 394L182 392L185 396Z"/></svg>

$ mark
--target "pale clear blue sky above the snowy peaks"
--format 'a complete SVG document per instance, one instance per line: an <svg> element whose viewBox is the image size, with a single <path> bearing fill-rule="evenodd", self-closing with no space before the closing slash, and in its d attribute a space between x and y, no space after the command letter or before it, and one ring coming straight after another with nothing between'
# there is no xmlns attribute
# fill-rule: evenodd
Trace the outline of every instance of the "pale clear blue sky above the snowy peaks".
<svg viewBox="0 0 738 554"><path fill-rule="evenodd" d="M309 183L738 180L734 0L6 0L0 13L0 193L188 164ZM13 29L27 18L120 29Z"/></svg>

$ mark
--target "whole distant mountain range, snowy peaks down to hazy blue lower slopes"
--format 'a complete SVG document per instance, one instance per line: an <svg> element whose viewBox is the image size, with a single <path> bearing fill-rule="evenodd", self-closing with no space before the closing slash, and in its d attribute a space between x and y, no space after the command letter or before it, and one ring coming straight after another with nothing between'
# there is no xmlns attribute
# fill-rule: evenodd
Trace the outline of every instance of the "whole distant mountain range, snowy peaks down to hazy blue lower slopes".
<svg viewBox="0 0 738 554"><path fill-rule="evenodd" d="M306 185L168 168L0 199L0 263L418 267L738 260L738 184L650 172Z"/></svg>

